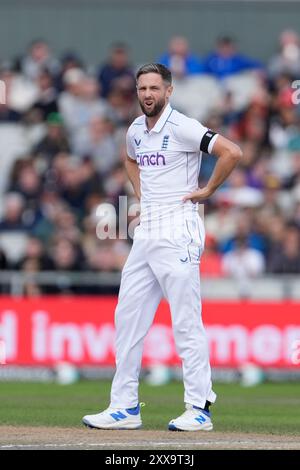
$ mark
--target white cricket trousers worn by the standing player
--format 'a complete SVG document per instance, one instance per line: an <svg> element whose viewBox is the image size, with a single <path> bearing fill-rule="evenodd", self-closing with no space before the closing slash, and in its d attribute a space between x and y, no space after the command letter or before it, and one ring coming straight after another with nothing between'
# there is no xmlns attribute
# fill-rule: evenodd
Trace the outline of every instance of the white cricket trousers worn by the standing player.
<svg viewBox="0 0 300 470"><path fill-rule="evenodd" d="M214 402L206 334L201 319L199 261L204 226L197 213L166 238L138 226L122 272L116 325L116 373L110 406L133 408L143 343L163 297L170 305L176 350L182 360L184 401L203 408Z"/></svg>

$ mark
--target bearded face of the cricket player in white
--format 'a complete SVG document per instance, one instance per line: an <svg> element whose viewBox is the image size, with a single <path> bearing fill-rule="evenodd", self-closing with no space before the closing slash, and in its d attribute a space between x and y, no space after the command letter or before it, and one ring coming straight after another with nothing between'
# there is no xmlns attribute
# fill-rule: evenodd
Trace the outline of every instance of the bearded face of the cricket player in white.
<svg viewBox="0 0 300 470"><path fill-rule="evenodd" d="M147 117L157 116L168 102L172 89L158 73L140 75L137 95L143 113Z"/></svg>

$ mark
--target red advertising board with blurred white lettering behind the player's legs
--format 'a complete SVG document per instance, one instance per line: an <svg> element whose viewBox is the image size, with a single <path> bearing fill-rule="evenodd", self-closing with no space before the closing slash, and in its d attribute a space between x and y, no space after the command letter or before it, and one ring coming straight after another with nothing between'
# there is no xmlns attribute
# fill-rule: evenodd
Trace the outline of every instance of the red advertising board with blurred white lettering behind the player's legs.
<svg viewBox="0 0 300 470"><path fill-rule="evenodd" d="M2 362L114 365L116 303L116 297L1 297ZM212 366L300 366L300 303L205 302L203 320ZM143 364L155 363L180 364L165 302L144 345Z"/></svg>

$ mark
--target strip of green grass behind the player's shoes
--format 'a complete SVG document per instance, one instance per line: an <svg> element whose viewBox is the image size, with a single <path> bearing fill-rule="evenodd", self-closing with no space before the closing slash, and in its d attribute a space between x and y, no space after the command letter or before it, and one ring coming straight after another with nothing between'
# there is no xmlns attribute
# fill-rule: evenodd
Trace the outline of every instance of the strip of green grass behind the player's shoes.
<svg viewBox="0 0 300 470"><path fill-rule="evenodd" d="M300 435L300 383L265 383L251 388L216 384L214 429ZM81 381L73 385L0 383L1 425L80 427L81 417L107 406L110 382ZM171 383L140 387L144 429L165 430L183 411L183 386Z"/></svg>

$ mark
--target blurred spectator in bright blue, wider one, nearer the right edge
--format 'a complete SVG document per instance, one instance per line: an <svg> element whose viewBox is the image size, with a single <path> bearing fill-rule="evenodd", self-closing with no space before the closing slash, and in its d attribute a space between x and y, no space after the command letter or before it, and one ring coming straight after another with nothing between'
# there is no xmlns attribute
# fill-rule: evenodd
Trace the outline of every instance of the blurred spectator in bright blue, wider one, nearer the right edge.
<svg viewBox="0 0 300 470"><path fill-rule="evenodd" d="M204 59L204 71L223 79L246 70L261 70L262 63L240 54L230 36L221 36L216 49Z"/></svg>

